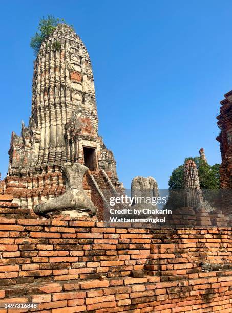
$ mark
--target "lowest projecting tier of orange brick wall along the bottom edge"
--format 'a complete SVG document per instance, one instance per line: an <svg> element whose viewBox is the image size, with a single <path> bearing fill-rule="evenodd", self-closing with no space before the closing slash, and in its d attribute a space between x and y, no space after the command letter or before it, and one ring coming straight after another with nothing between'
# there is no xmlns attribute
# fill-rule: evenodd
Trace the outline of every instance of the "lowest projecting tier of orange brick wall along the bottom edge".
<svg viewBox="0 0 232 313"><path fill-rule="evenodd" d="M160 282L159 277L52 282L0 290L2 302L38 303L43 313L231 312L231 273L207 273L189 280ZM222 275L222 277L221 277ZM10 298L8 298L10 297ZM27 309L18 310L27 312ZM0 309L0 312L7 312ZM14 312L9 310L8 312Z"/></svg>

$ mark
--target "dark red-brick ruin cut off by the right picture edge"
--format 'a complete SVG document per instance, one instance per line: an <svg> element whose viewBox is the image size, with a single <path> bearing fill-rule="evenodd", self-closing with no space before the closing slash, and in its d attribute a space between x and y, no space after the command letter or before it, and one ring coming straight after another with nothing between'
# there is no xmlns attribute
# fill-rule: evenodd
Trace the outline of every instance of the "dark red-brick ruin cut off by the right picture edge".
<svg viewBox="0 0 232 313"><path fill-rule="evenodd" d="M232 91L224 95L220 114L217 116L221 131L216 138L220 142L222 163L220 182L223 195L223 213L232 217Z"/></svg>

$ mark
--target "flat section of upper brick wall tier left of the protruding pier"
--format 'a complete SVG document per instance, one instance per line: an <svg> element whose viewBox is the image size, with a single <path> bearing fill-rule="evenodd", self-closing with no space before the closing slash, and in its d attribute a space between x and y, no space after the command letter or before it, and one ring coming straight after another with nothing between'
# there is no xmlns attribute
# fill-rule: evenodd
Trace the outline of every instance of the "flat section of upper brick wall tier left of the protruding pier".
<svg viewBox="0 0 232 313"><path fill-rule="evenodd" d="M9 272L0 275L0 285L38 277L59 281L102 273L128 276L143 269L153 236L148 230L106 228L93 221L0 218L0 223L0 264Z"/></svg>

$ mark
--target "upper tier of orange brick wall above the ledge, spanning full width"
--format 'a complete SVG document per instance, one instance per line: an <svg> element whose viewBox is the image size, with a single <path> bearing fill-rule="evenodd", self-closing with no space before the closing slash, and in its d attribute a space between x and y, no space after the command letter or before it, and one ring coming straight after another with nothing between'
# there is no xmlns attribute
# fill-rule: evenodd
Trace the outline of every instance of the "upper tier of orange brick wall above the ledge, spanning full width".
<svg viewBox="0 0 232 313"><path fill-rule="evenodd" d="M101 222L0 218L2 285L41 280L129 276L132 270L172 280L201 272L199 264L229 269L231 229L153 230L104 227ZM22 264L22 265L19 265ZM150 273L151 272L151 273ZM3 278L1 277L1 278Z"/></svg>

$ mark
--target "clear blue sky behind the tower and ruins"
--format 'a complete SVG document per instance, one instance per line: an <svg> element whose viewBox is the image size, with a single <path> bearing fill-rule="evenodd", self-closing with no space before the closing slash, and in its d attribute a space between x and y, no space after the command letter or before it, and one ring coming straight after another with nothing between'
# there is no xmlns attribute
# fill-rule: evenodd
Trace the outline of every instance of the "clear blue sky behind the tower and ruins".
<svg viewBox="0 0 232 313"><path fill-rule="evenodd" d="M31 112L33 51L40 17L73 24L93 64L99 134L120 181L173 169L205 148L220 163L216 116L232 89L231 1L11 1L1 3L2 178L11 132Z"/></svg>

